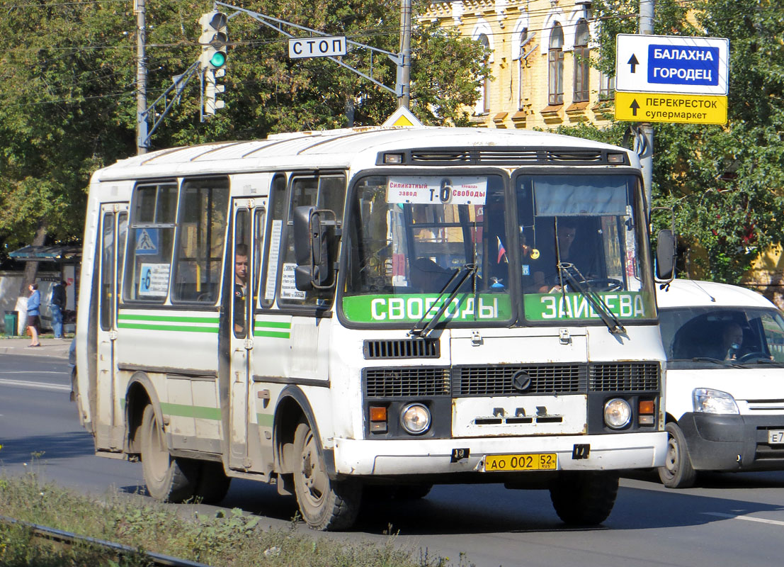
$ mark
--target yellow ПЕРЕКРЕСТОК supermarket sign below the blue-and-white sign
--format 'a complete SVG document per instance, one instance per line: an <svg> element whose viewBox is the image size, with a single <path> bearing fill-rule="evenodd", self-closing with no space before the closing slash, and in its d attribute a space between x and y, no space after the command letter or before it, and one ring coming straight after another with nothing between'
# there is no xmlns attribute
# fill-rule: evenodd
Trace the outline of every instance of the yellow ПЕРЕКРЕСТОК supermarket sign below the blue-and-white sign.
<svg viewBox="0 0 784 567"><path fill-rule="evenodd" d="M727 124L727 97L615 91L615 120Z"/></svg>

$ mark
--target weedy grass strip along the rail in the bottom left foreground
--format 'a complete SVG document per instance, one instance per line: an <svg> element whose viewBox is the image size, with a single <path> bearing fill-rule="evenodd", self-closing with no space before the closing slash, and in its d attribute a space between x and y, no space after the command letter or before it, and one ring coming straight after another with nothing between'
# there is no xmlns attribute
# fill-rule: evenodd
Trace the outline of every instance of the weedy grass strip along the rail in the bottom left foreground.
<svg viewBox="0 0 784 567"><path fill-rule="evenodd" d="M0 514L24 522L62 529L140 550L171 555L220 567L445 567L449 558L430 557L423 550L398 547L390 535L383 545L358 540L331 540L296 529L292 518L285 529L263 530L259 518L235 508L216 515L183 517L177 507L140 502L112 492L101 500L42 483L36 474L0 477ZM148 565L142 555L118 560L87 544L56 547L34 540L21 525L0 523L0 565L3 567L71 567ZM461 554L459 565L467 565Z"/></svg>

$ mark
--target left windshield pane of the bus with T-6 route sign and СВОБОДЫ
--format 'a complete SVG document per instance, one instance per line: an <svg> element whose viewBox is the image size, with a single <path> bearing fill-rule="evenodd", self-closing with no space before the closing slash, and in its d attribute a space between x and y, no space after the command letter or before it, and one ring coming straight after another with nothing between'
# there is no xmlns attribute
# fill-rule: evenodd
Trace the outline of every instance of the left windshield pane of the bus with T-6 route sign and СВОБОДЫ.
<svg viewBox="0 0 784 567"><path fill-rule="evenodd" d="M358 181L343 314L352 322L499 322L512 316L497 175L389 175ZM492 261L491 260L492 256ZM457 292L457 293L455 293Z"/></svg>

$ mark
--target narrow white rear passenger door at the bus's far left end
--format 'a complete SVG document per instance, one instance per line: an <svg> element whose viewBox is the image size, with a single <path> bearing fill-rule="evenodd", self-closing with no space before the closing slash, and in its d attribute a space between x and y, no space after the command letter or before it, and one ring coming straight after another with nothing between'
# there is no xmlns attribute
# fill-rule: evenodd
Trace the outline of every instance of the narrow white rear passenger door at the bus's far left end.
<svg viewBox="0 0 784 567"><path fill-rule="evenodd" d="M98 325L96 383L96 449L122 449L123 393L117 376L117 294L122 273L128 204L112 203L100 209L100 266L98 267Z"/></svg>

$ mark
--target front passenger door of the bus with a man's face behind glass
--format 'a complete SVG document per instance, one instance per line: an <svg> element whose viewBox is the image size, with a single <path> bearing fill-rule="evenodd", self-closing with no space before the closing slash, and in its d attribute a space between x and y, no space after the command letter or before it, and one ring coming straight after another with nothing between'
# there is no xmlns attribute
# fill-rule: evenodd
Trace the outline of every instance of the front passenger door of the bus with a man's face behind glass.
<svg viewBox="0 0 784 567"><path fill-rule="evenodd" d="M229 467L239 470L247 470L252 465L248 442L251 421L249 394L252 382L253 305L257 299L256 282L260 264L257 241L263 237L258 219L263 218L263 205L260 199L234 199L231 209L234 234L230 253L234 257L231 260L231 286L226 290L232 296Z"/></svg>

